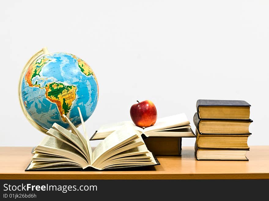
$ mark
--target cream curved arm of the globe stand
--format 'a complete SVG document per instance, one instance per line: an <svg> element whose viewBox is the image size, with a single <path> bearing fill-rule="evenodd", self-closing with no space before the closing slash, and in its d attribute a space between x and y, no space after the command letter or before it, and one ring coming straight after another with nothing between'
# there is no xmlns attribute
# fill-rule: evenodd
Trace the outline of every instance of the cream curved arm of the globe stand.
<svg viewBox="0 0 269 201"><path fill-rule="evenodd" d="M21 84L22 84L22 80L24 77L24 74L26 72L26 70L28 69L28 67L35 61L35 59L39 58L42 54L49 54L48 50L46 47L42 48L42 50L39 50L38 52L36 52L26 63L26 65L24 66L22 73L20 75L20 81L19 81L19 88L18 88L18 93L19 93L19 100L20 100L20 107L23 111L24 116L26 117L26 119L31 123L31 125L33 125L37 130L46 133L48 131L48 129L40 126L39 124L37 124L32 118L31 116L28 114L28 112L26 111L25 107L24 107L24 103L22 100L22 96L21 96Z"/></svg>

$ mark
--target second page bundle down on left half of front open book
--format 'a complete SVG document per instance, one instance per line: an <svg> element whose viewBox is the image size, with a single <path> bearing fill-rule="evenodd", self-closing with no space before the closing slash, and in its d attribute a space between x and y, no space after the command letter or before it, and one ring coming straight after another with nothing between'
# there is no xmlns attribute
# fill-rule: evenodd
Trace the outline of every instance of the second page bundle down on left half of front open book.
<svg viewBox="0 0 269 201"><path fill-rule="evenodd" d="M89 165L83 154L77 151L74 147L52 136L46 136L41 143L35 147L35 151L53 154L59 156L59 158L69 158L73 161L74 165L79 164L82 168L86 168Z"/></svg>

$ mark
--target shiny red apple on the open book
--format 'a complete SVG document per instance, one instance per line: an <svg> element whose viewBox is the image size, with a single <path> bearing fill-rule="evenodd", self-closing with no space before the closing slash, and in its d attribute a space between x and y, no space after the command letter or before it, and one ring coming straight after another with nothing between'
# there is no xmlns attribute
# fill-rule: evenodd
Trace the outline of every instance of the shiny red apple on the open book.
<svg viewBox="0 0 269 201"><path fill-rule="evenodd" d="M152 126L157 120L156 107L150 100L144 100L132 105L130 115L134 124L139 127Z"/></svg>

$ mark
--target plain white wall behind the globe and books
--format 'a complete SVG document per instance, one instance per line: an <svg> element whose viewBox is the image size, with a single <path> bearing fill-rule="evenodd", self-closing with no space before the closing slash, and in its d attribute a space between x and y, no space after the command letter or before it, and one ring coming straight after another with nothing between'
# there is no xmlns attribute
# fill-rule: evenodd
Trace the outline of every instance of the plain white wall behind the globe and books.
<svg viewBox="0 0 269 201"><path fill-rule="evenodd" d="M99 101L85 122L131 120L136 100L158 117L185 113L193 130L197 99L251 104L248 144L269 145L268 1L1 1L0 146L36 146L45 134L24 117L18 80L42 47L85 60ZM195 138L183 138L193 146ZM95 146L98 141L92 143Z"/></svg>

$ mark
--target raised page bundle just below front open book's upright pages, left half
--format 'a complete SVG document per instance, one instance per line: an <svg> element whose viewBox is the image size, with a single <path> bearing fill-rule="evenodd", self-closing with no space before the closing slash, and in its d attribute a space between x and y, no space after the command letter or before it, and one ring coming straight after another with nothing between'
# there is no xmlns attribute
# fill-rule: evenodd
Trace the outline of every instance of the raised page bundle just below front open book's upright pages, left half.
<svg viewBox="0 0 269 201"><path fill-rule="evenodd" d="M53 136L56 139L61 140L62 142L74 147L81 154L83 154L83 156L87 158L88 161L90 160L87 150L85 150L82 142L79 140L79 138L76 135L74 135L72 132L66 130L65 128L61 127L60 125L56 123L54 123L52 127L53 128L50 128L46 132L48 135Z"/></svg>

